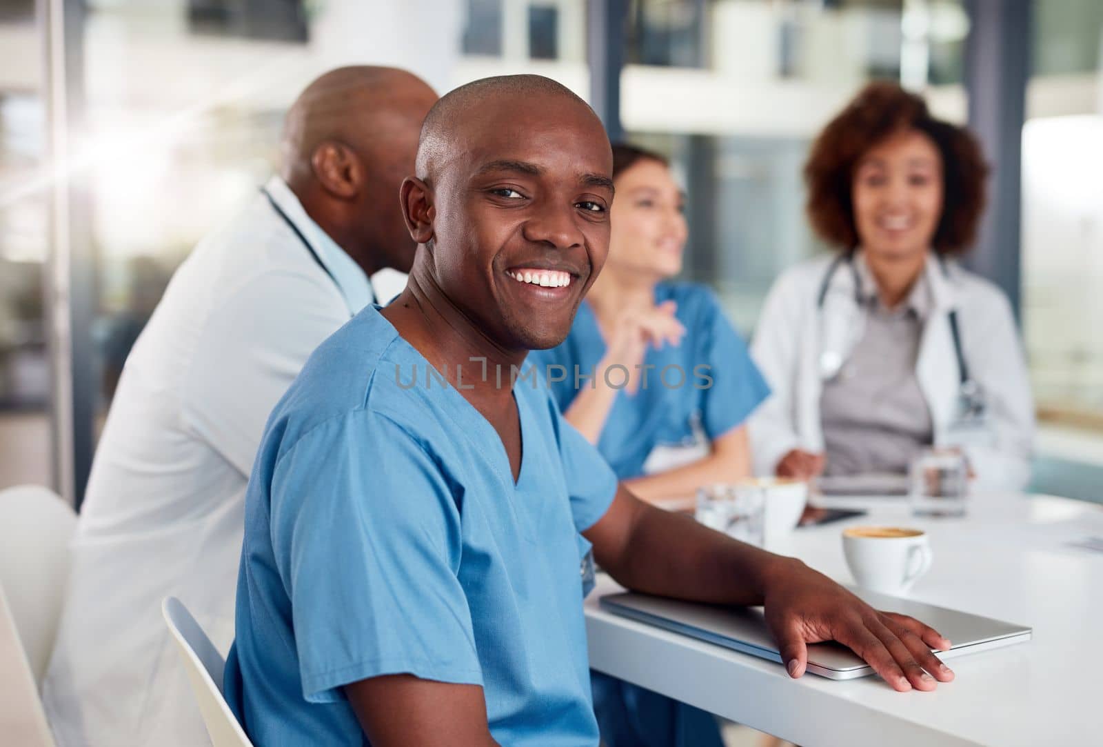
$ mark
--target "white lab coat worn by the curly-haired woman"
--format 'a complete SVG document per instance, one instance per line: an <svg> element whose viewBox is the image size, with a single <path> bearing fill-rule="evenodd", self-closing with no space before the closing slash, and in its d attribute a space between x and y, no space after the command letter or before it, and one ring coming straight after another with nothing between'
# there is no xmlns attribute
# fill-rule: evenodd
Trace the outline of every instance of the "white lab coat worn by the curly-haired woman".
<svg viewBox="0 0 1103 747"><path fill-rule="evenodd" d="M821 288L833 257L786 270L767 297L751 354L772 388L749 420L759 474L773 474L791 449L822 452L821 354L843 361L861 340L865 310L855 298L850 268L832 274L823 309ZM857 259L856 259L857 262ZM974 490L1021 490L1030 477L1034 403L1010 305L993 284L956 263L930 257L925 268L933 301L923 327L915 374L930 408L935 446L962 446L976 472ZM985 393L982 428L955 427L960 373L949 313L957 309L971 376Z"/></svg>

